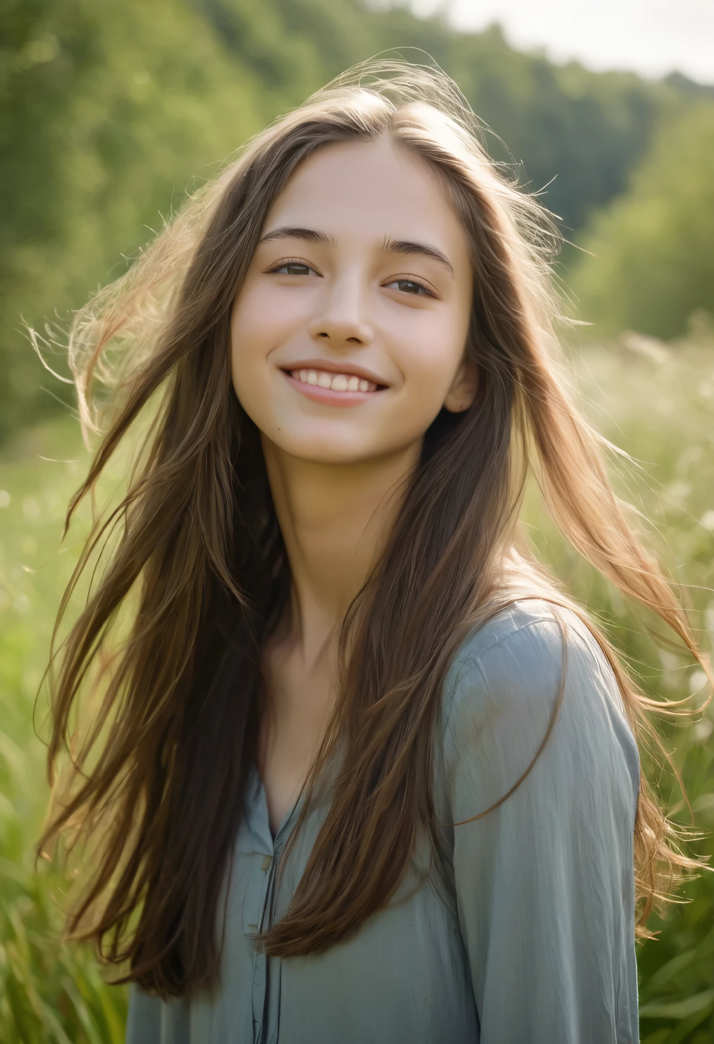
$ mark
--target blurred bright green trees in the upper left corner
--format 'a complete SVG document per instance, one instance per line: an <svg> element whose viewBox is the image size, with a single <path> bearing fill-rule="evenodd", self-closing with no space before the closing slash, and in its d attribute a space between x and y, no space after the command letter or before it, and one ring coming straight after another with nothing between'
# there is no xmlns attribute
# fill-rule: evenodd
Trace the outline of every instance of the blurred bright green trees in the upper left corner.
<svg viewBox="0 0 714 1044"><path fill-rule="evenodd" d="M181 0L0 7L0 435L52 403L39 325L125 270L192 179L263 122L258 87Z"/></svg>

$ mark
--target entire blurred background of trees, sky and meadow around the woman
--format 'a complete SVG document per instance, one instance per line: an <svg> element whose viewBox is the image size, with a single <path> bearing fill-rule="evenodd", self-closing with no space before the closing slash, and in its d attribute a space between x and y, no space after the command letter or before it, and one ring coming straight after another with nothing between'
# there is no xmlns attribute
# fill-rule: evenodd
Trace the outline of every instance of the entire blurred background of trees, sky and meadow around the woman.
<svg viewBox="0 0 714 1044"><path fill-rule="evenodd" d="M125 994L59 942L66 882L32 869L47 789L41 696L87 516L61 544L87 468L68 385L23 324L62 339L73 308L227 156L355 62L428 52L541 192L567 240L564 348L585 409L634 458L620 492L714 637L714 5L711 0L2 0L0 3L0 1042L123 1041ZM52 365L66 367L59 350ZM706 696L563 545L526 522L644 689ZM714 714L663 726L674 817L714 853ZM645 758L646 760L646 758ZM676 782L680 774L687 801ZM638 950L647 1044L714 1041L714 874L653 917Z"/></svg>

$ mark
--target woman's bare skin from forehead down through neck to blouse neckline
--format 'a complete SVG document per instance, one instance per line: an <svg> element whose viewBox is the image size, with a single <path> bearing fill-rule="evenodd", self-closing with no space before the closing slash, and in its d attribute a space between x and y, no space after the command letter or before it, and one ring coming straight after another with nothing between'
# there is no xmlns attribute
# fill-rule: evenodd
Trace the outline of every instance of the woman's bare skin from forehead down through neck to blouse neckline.
<svg viewBox="0 0 714 1044"><path fill-rule="evenodd" d="M262 664L258 767L273 833L324 737L339 628L424 433L442 407L473 402L471 301L453 209L426 164L386 139L319 150L267 215L234 306L232 367L262 433L292 573Z"/></svg>

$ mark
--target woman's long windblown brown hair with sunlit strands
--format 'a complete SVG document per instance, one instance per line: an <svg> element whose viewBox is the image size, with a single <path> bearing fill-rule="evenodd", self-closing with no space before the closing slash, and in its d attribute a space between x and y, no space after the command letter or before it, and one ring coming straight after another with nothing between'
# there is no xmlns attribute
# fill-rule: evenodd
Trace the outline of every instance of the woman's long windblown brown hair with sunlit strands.
<svg viewBox="0 0 714 1044"><path fill-rule="evenodd" d="M380 135L431 165L462 221L479 392L466 413L444 413L427 431L388 547L344 620L339 698L308 787L339 744L333 799L292 904L264 936L267 952L315 952L353 932L395 894L421 827L433 834L432 735L445 671L469 628L519 595L568 604L514 550L528 474L580 554L699 658L557 377L556 236L539 204L489 159L476 118L441 72L397 62L340 77L253 140L71 332L86 429L99 430L102 388L112 414L68 522L148 420L129 435L138 449L125 496L95 521L59 610L61 620L103 552L53 657L54 800L41 847L63 834L70 847L92 845L69 931L95 939L106 960L127 964L127 978L164 997L215 978L221 889L255 754L260 650L290 584L259 432L232 389L231 307L296 166L326 145ZM646 710L661 705L589 625L641 732ZM98 702L78 735L82 693ZM644 924L662 880L689 864L644 780L635 853Z"/></svg>

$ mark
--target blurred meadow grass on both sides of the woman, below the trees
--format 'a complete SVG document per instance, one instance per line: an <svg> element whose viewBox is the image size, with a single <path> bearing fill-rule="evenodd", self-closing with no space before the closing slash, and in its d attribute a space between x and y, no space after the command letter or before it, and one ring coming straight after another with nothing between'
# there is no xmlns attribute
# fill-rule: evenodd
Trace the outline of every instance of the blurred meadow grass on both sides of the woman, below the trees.
<svg viewBox="0 0 714 1044"><path fill-rule="evenodd" d="M617 481L651 520L652 539L683 585L706 645L714 634L714 338L665 346L635 335L573 352L584 405L597 428L634 457ZM87 517L61 547L64 511L88 457L70 418L24 432L0 455L0 1044L123 1040L126 995L104 983L93 954L63 944L65 882L34 873L32 846L46 800L44 748L32 712L61 592ZM598 615L652 694L701 692L704 675L675 649L658 651L619 595L585 567L533 507L534 545ZM707 631L711 633L707 636ZM35 726L42 734L41 696ZM696 851L714 854L714 711L665 727L694 825ZM675 780L664 800L692 825ZM714 874L653 918L656 940L639 948L646 1044L714 1040Z"/></svg>

